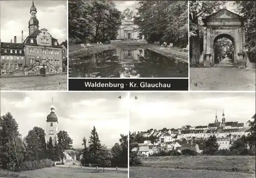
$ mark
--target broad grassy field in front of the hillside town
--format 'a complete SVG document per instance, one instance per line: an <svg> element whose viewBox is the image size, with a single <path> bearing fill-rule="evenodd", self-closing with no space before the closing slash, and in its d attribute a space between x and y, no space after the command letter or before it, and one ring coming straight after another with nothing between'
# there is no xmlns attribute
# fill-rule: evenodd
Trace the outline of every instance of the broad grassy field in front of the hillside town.
<svg viewBox="0 0 256 178"><path fill-rule="evenodd" d="M130 168L130 177L255 177L255 157L147 157L141 161L141 166ZM233 167L237 167L238 172L233 172Z"/></svg>

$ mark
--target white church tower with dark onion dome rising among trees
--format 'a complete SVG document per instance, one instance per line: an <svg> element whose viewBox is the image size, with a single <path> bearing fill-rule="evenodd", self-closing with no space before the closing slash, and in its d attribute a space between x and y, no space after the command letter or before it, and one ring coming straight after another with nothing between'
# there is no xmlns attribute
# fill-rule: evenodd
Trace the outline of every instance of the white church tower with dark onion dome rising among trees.
<svg viewBox="0 0 256 178"><path fill-rule="evenodd" d="M47 116L46 120L46 142L49 142L50 137L52 138L52 144L55 145L57 142L57 133L58 133L58 118L55 115L55 107L51 106L51 113Z"/></svg>

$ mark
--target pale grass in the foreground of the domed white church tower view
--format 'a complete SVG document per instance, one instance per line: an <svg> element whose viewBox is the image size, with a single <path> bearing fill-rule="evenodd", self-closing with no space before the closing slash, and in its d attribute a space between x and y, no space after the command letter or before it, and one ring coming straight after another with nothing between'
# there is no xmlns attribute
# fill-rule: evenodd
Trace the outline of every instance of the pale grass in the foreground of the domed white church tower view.
<svg viewBox="0 0 256 178"><path fill-rule="evenodd" d="M33 171L24 171L13 173L1 170L0 177L17 177L17 178L83 178L83 177L101 177L101 178L127 178L127 171L105 170L99 172L95 169L86 168L68 168L68 167L51 167L37 169Z"/></svg>

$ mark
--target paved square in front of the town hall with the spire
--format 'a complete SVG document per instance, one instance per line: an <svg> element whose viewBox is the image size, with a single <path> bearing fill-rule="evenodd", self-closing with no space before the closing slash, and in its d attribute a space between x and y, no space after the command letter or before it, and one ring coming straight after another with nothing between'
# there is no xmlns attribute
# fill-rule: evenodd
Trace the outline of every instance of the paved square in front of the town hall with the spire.
<svg viewBox="0 0 256 178"><path fill-rule="evenodd" d="M1 78L1 91L5 90L67 90L67 74L54 76L24 76Z"/></svg>

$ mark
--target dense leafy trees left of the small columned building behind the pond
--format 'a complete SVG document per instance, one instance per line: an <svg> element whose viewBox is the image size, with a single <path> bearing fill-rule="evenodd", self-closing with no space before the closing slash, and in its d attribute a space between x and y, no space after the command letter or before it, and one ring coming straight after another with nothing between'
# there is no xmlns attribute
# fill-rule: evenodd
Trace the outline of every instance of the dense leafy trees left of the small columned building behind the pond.
<svg viewBox="0 0 256 178"><path fill-rule="evenodd" d="M121 12L112 1L69 1L69 41L86 43L115 39Z"/></svg>

